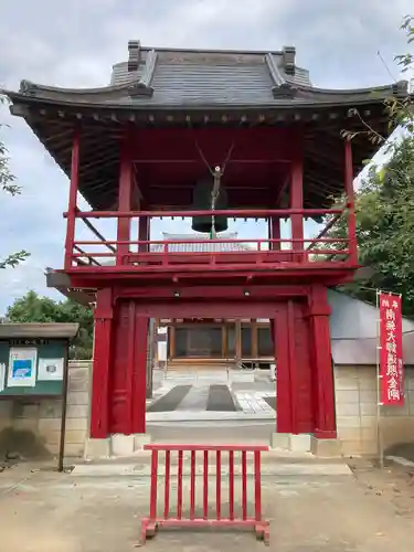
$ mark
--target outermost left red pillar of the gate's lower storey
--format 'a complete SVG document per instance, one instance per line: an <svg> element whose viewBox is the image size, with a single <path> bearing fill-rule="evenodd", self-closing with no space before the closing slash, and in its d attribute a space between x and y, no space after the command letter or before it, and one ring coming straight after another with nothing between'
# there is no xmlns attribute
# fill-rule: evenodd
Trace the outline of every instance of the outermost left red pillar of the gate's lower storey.
<svg viewBox="0 0 414 552"><path fill-rule="evenodd" d="M94 361L92 372L91 437L105 438L109 431L109 376L112 362L113 290L99 289L96 296Z"/></svg>

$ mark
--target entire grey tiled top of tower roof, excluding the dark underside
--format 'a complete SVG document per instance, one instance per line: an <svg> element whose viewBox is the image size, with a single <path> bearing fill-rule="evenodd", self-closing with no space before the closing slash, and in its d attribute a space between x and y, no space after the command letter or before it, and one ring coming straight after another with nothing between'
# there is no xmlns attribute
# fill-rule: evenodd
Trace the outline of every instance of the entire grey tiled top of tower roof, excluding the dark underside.
<svg viewBox="0 0 414 552"><path fill-rule="evenodd" d="M372 100L372 92L406 93L405 82L374 89L323 89L311 85L296 64L296 50L278 52L180 50L128 43L129 60L113 67L110 84L100 88L59 88L22 81L19 93L45 102L78 106L142 107L288 107Z"/></svg>

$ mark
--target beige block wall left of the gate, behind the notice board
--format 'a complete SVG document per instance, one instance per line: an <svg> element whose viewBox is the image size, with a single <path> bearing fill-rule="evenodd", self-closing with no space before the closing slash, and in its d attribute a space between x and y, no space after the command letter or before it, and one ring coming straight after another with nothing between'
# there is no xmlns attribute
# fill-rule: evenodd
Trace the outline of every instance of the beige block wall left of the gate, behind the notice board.
<svg viewBox="0 0 414 552"><path fill-rule="evenodd" d="M82 456L89 418L91 361L71 361L66 411L65 456ZM61 436L62 399L0 401L0 457L56 456Z"/></svg>

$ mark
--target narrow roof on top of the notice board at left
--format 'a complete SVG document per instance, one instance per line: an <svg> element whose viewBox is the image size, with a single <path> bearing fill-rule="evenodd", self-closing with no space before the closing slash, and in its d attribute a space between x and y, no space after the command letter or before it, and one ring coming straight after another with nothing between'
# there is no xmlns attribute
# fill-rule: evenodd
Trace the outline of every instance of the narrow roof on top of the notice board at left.
<svg viewBox="0 0 414 552"><path fill-rule="evenodd" d="M11 338L74 338L78 332L78 323L38 323L7 322L0 323L0 339Z"/></svg>

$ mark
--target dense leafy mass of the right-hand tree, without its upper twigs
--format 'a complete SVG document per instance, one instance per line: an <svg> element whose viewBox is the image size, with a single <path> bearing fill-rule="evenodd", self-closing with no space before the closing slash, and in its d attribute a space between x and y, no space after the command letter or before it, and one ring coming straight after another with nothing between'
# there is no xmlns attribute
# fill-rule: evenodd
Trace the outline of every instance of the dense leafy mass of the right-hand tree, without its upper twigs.
<svg viewBox="0 0 414 552"><path fill-rule="evenodd" d="M375 301L374 289L400 293L405 315L414 315L414 138L393 146L391 158L373 167L355 192L359 262L371 268L365 279L344 286L357 297ZM342 217L329 233L347 236Z"/></svg>

